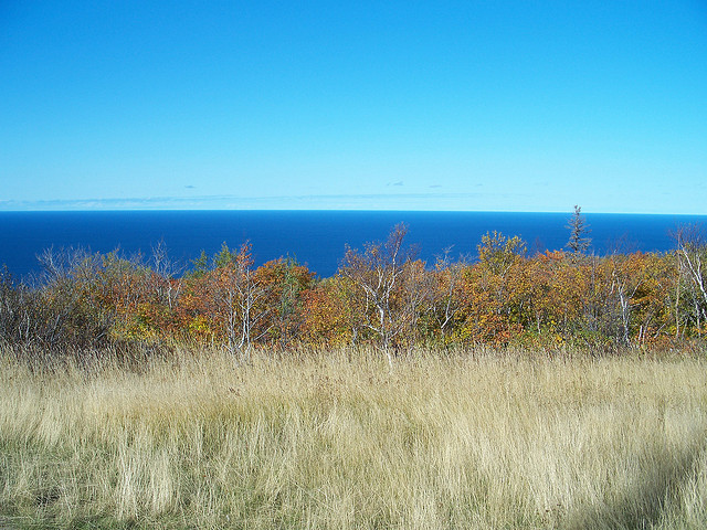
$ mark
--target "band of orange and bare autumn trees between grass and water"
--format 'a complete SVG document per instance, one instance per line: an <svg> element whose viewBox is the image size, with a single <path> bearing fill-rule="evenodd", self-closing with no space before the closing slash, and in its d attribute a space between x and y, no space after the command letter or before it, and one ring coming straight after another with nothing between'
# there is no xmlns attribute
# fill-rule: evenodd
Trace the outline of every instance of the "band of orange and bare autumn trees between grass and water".
<svg viewBox="0 0 707 530"><path fill-rule="evenodd" d="M587 254L577 226L572 251L536 255L490 232L476 259L432 264L405 235L398 225L384 242L346 248L328 278L292 258L256 267L249 243L183 268L163 244L134 257L45 251L34 280L0 274L0 341L46 351L188 342L239 358L261 346L374 344L391 360L415 346L667 349L707 332L707 244L695 227L678 229L669 253L606 256Z"/></svg>

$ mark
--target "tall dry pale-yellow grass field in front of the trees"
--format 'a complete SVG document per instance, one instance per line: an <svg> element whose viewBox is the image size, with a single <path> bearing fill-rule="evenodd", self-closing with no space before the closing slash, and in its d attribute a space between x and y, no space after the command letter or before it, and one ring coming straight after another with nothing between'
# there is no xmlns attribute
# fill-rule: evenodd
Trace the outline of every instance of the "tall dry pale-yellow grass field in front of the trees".
<svg viewBox="0 0 707 530"><path fill-rule="evenodd" d="M707 528L698 359L0 364L0 527Z"/></svg>

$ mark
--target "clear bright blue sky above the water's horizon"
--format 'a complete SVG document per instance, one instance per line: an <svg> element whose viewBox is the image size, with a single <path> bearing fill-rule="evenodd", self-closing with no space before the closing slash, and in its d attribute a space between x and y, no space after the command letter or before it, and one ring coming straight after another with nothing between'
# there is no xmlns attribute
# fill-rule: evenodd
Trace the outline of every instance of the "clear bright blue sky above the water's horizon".
<svg viewBox="0 0 707 530"><path fill-rule="evenodd" d="M707 214L707 2L0 2L0 210Z"/></svg>

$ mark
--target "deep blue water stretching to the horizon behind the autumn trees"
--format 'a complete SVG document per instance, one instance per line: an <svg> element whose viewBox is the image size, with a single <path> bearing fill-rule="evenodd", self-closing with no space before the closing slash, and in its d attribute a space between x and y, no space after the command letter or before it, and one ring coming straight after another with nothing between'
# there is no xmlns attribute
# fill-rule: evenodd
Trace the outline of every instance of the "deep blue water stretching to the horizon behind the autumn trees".
<svg viewBox="0 0 707 530"><path fill-rule="evenodd" d="M226 242L238 247L250 240L257 264L296 257L319 276L331 276L345 245L362 247L384 240L390 229L409 225L409 243L429 264L444 248L452 255L474 255L487 231L519 235L531 252L561 248L568 240L570 213L507 212L361 212L361 211L114 211L0 212L0 264L18 277L39 269L44 248L83 246L94 252L120 248L149 254L163 240L170 256L189 265L204 250L212 255ZM701 223L707 215L587 214L593 251L666 252L674 247L669 231Z"/></svg>

